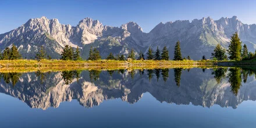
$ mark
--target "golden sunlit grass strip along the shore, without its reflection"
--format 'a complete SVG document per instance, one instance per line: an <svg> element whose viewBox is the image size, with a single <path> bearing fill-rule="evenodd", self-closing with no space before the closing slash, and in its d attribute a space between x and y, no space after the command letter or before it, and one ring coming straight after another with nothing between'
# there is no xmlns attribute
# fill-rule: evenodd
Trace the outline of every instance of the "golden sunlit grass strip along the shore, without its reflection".
<svg viewBox="0 0 256 128"><path fill-rule="evenodd" d="M1 60L1 67L69 67L69 66L168 66L168 65L216 65L215 61L62 61L62 60Z"/></svg>

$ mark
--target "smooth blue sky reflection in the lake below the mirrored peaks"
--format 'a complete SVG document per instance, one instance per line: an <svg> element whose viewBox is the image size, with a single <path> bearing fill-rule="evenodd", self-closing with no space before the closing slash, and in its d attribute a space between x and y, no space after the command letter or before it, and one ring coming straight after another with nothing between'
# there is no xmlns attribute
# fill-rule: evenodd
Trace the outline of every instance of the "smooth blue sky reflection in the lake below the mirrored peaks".
<svg viewBox="0 0 256 128"><path fill-rule="evenodd" d="M1 127L254 127L256 103L239 108L211 109L194 105L159 104L145 93L136 104L120 99L87 109L76 100L62 102L58 109L31 109L16 98L0 94Z"/></svg>

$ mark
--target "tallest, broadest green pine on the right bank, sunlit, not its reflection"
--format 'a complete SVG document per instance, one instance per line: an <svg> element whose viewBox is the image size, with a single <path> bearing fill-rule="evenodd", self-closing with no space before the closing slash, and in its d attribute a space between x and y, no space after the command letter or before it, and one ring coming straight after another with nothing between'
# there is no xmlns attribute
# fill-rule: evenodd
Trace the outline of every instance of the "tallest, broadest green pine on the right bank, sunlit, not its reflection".
<svg viewBox="0 0 256 128"><path fill-rule="evenodd" d="M234 33L231 37L229 50L227 51L230 55L229 59L235 61L241 60L241 43L238 33Z"/></svg>

